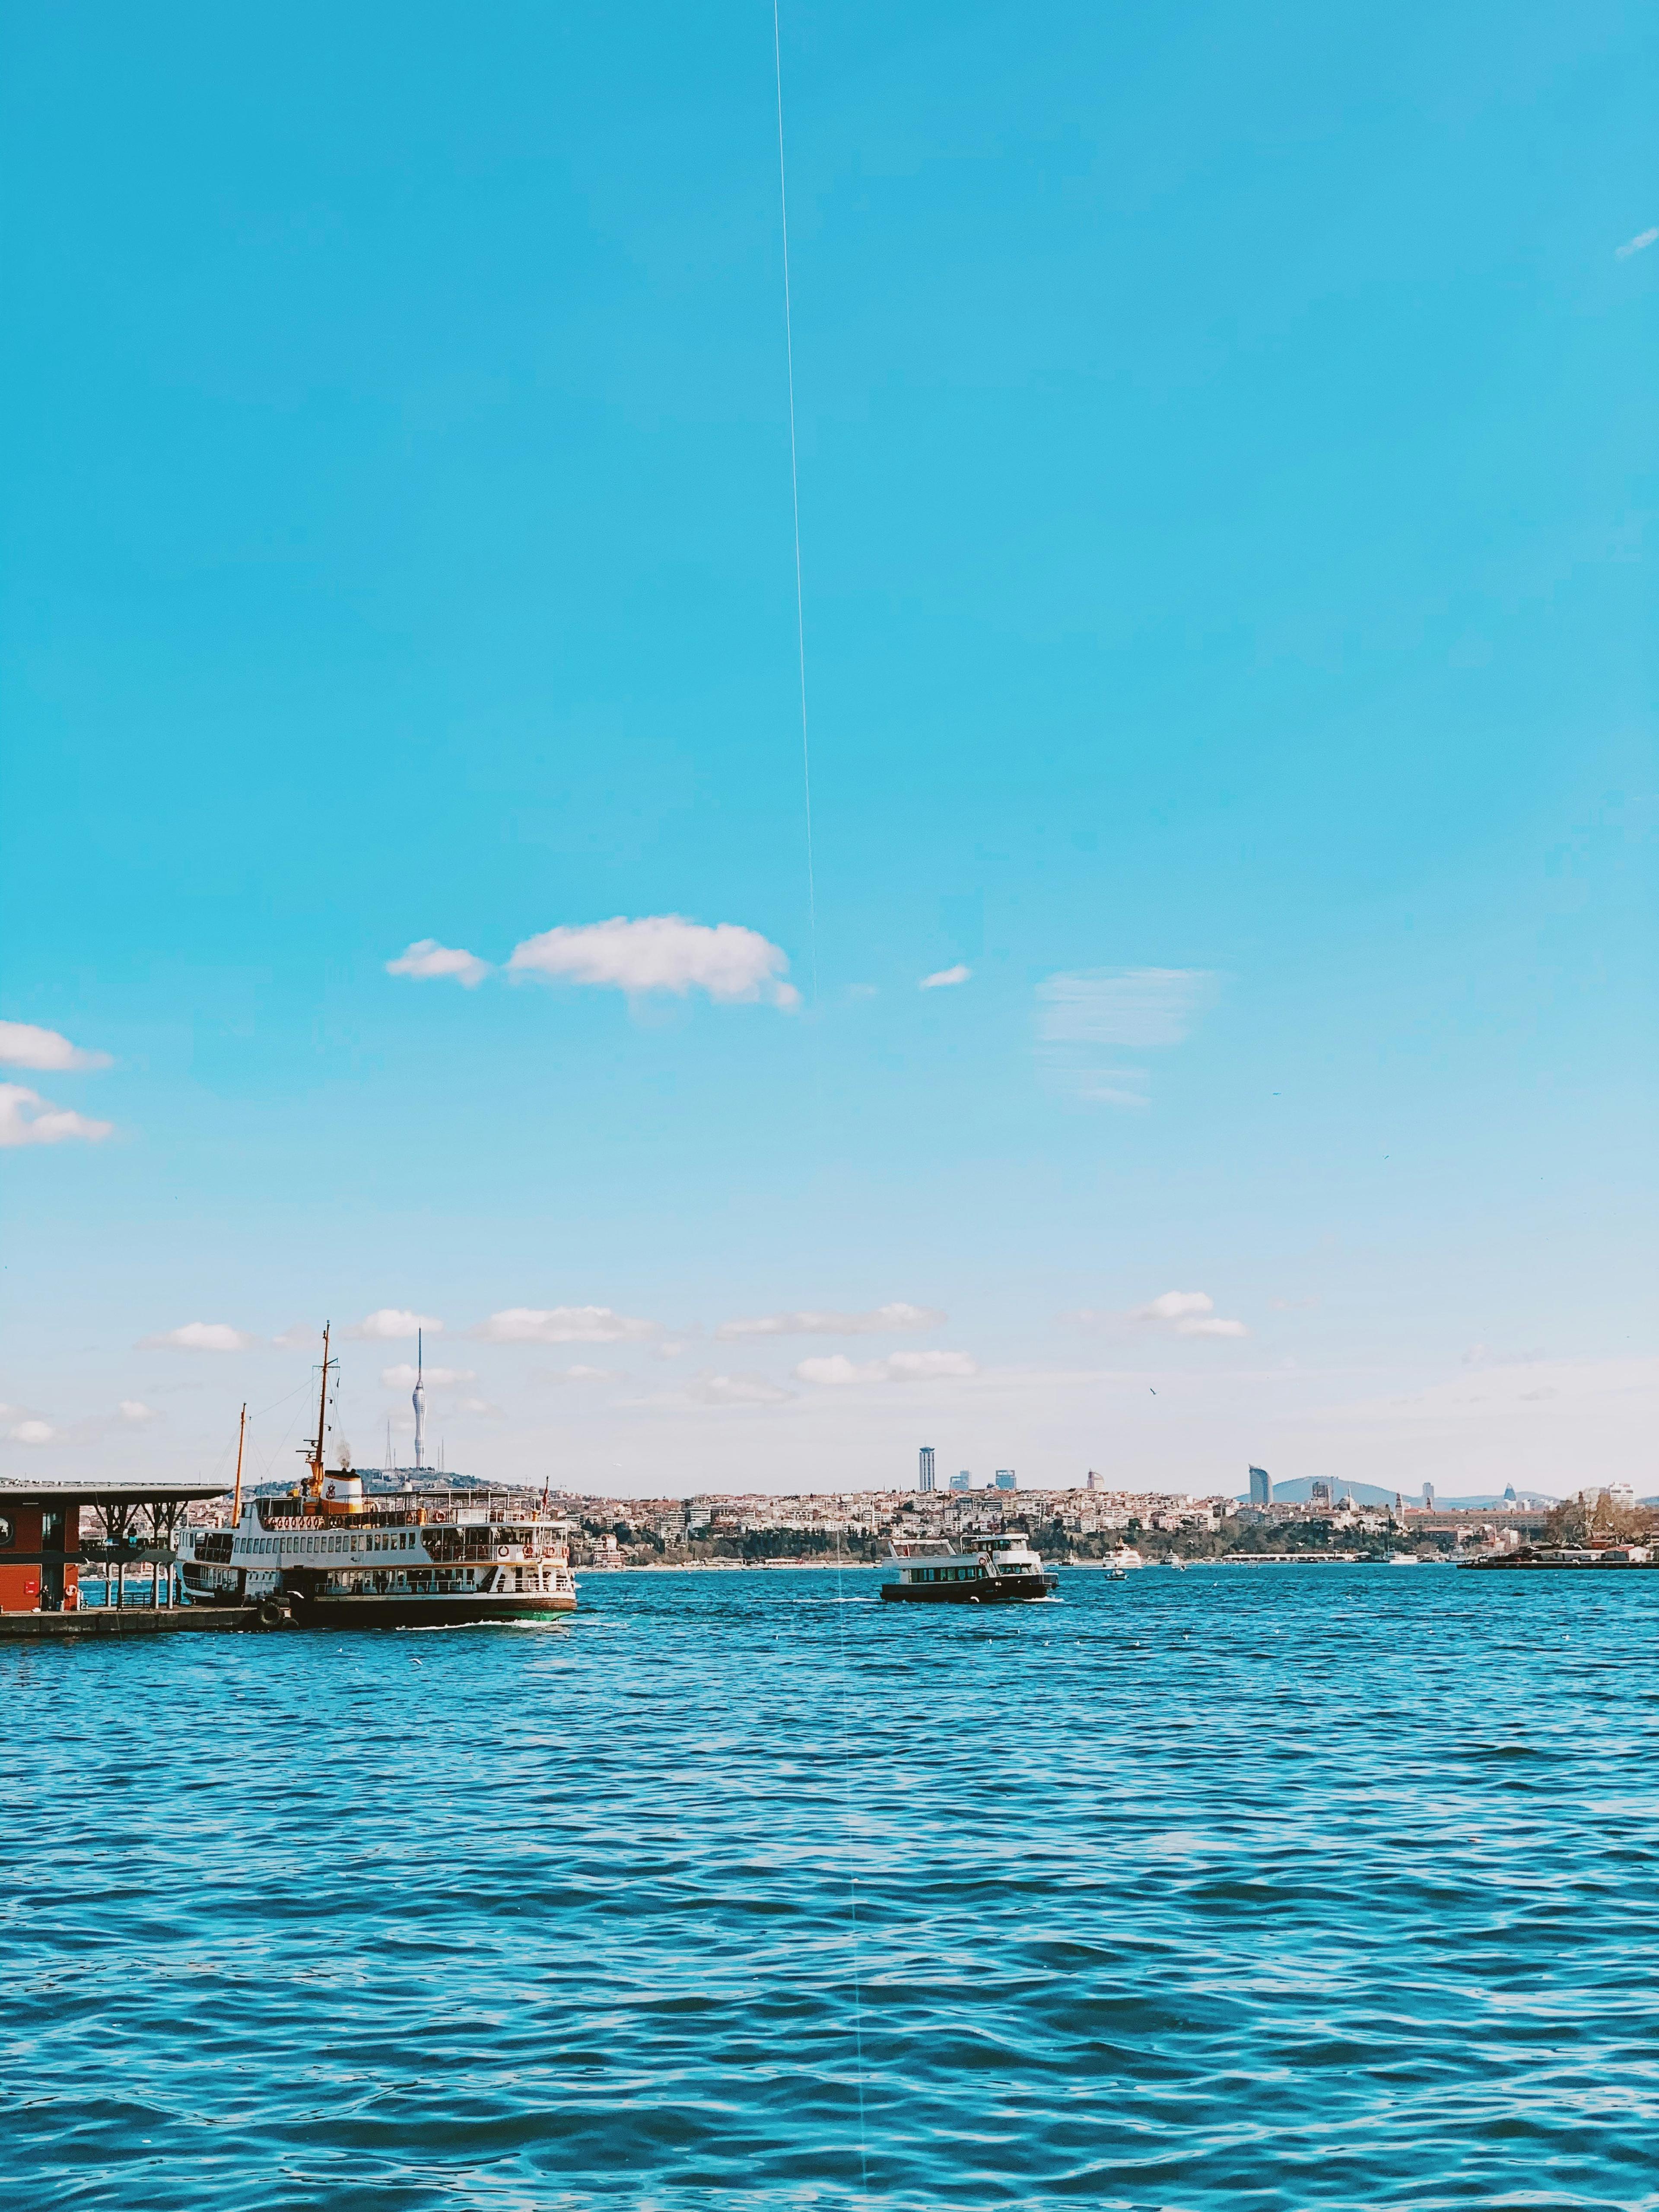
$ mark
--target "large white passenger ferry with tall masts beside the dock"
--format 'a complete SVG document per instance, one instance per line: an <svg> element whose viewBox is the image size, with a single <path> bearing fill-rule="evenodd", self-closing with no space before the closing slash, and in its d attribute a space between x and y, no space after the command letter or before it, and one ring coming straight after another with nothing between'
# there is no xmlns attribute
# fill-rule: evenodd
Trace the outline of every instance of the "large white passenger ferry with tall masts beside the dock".
<svg viewBox="0 0 1659 2212"><path fill-rule="evenodd" d="M179 1531L188 1604L257 1606L265 1628L436 1628L575 1610L571 1522L542 1506L422 1480L425 1387L416 1380L416 1467L407 1489L369 1493L352 1467L323 1464L327 1356L310 1475L241 1500L241 1442L228 1528ZM248 1409L243 1407L243 1436Z"/></svg>

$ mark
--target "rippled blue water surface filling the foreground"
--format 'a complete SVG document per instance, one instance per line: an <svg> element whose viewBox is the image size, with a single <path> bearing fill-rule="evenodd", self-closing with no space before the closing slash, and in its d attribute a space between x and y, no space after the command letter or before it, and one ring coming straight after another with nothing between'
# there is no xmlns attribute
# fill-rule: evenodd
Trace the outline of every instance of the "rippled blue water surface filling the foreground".
<svg viewBox="0 0 1659 2212"><path fill-rule="evenodd" d="M7 2203L1659 2205L1659 1575L0 1644Z"/></svg>

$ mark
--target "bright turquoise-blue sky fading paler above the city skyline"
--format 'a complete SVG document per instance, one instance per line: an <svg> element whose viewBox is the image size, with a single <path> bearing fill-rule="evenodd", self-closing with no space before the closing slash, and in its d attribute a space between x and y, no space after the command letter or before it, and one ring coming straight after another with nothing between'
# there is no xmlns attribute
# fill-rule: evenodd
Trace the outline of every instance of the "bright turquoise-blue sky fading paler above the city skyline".
<svg viewBox="0 0 1659 2212"><path fill-rule="evenodd" d="M770 11L13 18L4 1467L1652 1489L1655 44L783 9L814 991Z"/></svg>

